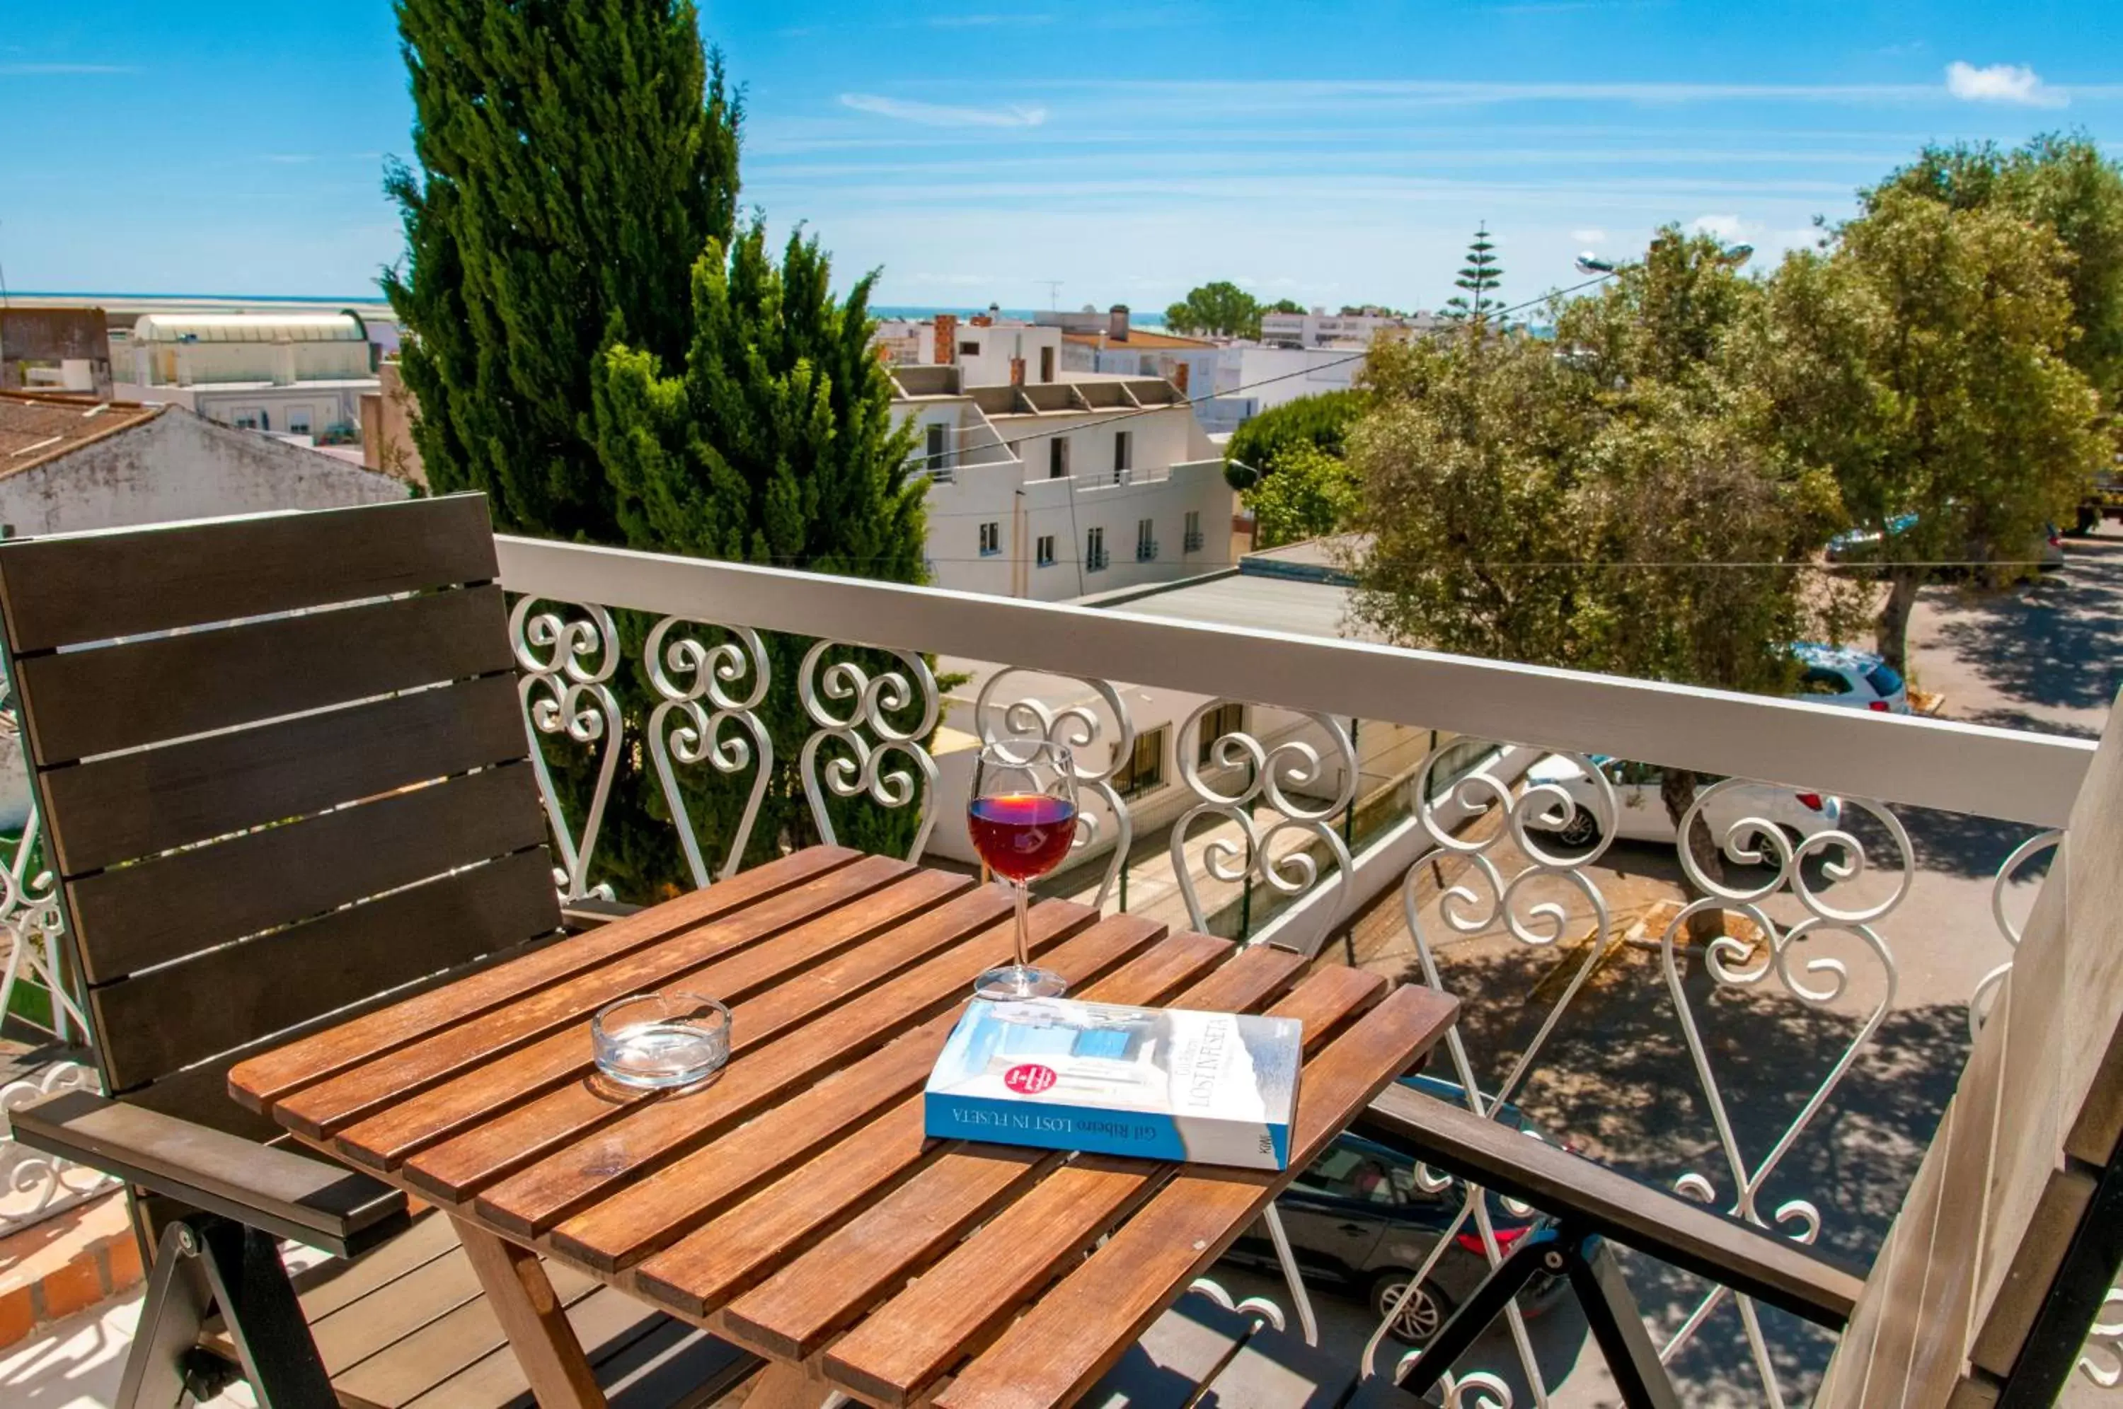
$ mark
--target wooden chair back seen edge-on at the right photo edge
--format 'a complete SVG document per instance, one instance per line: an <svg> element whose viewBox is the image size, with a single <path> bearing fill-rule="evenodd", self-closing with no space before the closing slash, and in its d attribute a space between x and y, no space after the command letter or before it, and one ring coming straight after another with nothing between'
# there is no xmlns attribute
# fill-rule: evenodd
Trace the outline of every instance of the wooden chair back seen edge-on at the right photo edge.
<svg viewBox="0 0 2123 1409"><path fill-rule="evenodd" d="M2123 1258L2123 709L1815 1396L2049 1405Z"/></svg>

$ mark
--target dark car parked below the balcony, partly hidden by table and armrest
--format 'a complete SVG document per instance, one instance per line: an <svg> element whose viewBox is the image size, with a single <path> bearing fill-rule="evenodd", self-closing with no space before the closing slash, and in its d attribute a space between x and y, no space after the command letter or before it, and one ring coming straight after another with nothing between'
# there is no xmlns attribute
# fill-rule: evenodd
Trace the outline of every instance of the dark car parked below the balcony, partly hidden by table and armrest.
<svg viewBox="0 0 2123 1409"><path fill-rule="evenodd" d="M1459 1082L1435 1076L1403 1076L1401 1084L1439 1101L1456 1106L1467 1101ZM1535 1140L1560 1144L1509 1101L1497 1112L1497 1120ZM1297 1254L1306 1284L1340 1286L1363 1297L1371 1316L1384 1316L1408 1286L1410 1275L1422 1267L1422 1258L1452 1227L1465 1199L1467 1190L1459 1180L1450 1188L1427 1193L1416 1184L1412 1159L1361 1135L1344 1133L1291 1182L1289 1190L1276 1199L1276 1207L1282 1212L1282 1227L1291 1235L1291 1252ZM1533 1218L1512 1214L1497 1195L1488 1195L1488 1216L1503 1252L1509 1252L1512 1243L1533 1229L1550 1222L1541 1214ZM1488 1275L1482 1231L1473 1218L1454 1235L1452 1243L1393 1324L1393 1333L1410 1345L1429 1341L1452 1316L1452 1307L1465 1301ZM1227 1256L1248 1267L1280 1271L1276 1250L1259 1224L1248 1229ZM1537 1314L1556 1299L1563 1286L1554 1277L1535 1277L1518 1305L1526 1314Z"/></svg>

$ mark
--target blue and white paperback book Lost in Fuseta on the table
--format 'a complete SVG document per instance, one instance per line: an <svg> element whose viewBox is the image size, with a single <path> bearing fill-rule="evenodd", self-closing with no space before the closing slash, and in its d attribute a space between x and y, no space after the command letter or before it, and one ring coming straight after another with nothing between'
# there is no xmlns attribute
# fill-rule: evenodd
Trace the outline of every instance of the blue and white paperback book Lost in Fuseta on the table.
<svg viewBox="0 0 2123 1409"><path fill-rule="evenodd" d="M1297 1019L974 1002L921 1106L930 1135L1282 1169L1304 1050Z"/></svg>

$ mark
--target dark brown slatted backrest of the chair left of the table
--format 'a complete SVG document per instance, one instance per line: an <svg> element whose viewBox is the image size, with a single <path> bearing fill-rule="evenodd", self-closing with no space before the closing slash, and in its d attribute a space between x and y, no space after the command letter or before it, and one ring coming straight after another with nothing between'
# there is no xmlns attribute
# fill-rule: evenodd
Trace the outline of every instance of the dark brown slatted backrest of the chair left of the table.
<svg viewBox="0 0 2123 1409"><path fill-rule="evenodd" d="M110 1095L272 1135L234 1061L558 929L495 577L480 494L0 543Z"/></svg>

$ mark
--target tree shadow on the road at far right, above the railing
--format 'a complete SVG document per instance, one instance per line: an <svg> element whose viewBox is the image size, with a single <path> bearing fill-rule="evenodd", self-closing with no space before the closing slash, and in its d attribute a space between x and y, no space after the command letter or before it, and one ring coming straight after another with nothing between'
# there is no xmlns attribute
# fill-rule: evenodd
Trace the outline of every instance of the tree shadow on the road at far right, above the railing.
<svg viewBox="0 0 2123 1409"><path fill-rule="evenodd" d="M2123 688L2123 543L2081 541L2102 573L2070 573L2013 592L1936 603L1938 641L2000 694L2053 709L2106 709ZM1985 719L1987 721L1987 719ZM2059 732L2027 717L2025 726Z"/></svg>

